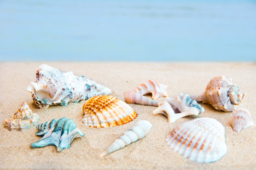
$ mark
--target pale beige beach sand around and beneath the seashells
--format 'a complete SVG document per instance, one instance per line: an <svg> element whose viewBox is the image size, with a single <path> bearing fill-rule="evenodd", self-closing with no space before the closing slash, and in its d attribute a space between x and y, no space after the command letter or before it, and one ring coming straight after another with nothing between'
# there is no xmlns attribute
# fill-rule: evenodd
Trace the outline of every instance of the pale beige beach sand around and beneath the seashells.
<svg viewBox="0 0 256 170"><path fill-rule="evenodd" d="M87 128L82 124L84 101L69 103L68 106L51 106L38 109L33 104L27 86L35 81L35 71L40 62L0 63L0 169L255 169L256 126L242 132L234 132L230 127L230 113L216 111L208 104L201 104L205 113L181 118L175 123L167 123L164 115L152 115L155 107L130 104L138 113L132 122L114 128ZM167 84L169 96L180 93L190 95L204 92L211 77L225 75L245 93L240 104L255 115L256 63L133 63L133 62L46 62L62 71L72 71L77 76L86 76L113 90L112 96L123 100L123 92L135 86L156 79ZM157 99L163 101L164 98ZM39 123L53 118L72 118L84 137L76 138L69 149L56 152L54 146L30 149L30 143L41 137L35 135L36 128L23 132L4 128L4 120L11 118L26 101L33 113L40 116ZM228 153L218 162L199 164L184 159L166 145L168 133L178 125L194 118L209 117L220 121L226 129ZM118 152L101 158L99 154L135 125L138 120L148 120L152 130L138 142Z"/></svg>

